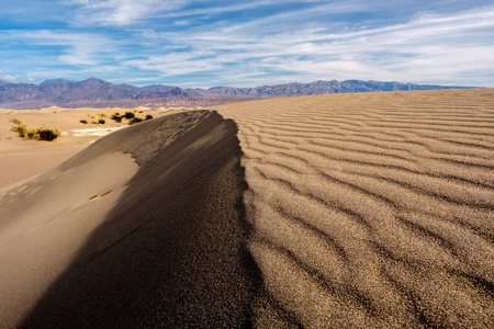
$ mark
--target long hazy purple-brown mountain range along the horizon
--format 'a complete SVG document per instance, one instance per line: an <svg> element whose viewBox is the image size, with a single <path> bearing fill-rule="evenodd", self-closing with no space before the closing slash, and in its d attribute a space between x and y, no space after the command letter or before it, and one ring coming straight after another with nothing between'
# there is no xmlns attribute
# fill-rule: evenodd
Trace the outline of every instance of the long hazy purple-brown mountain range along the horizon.
<svg viewBox="0 0 494 329"><path fill-rule="evenodd" d="M135 87L126 83L114 84L97 78L83 81L52 79L40 84L13 83L0 80L0 107L35 109L50 105L65 107L194 106L326 93L465 88L469 87L362 80L293 82L255 88L213 87L210 89L183 89L162 84Z"/></svg>

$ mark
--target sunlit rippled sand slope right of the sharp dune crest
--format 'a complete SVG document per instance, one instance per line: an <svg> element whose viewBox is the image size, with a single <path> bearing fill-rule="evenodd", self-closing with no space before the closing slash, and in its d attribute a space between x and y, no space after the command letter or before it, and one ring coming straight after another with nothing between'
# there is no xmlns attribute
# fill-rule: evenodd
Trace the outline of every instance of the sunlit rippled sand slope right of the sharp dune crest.
<svg viewBox="0 0 494 329"><path fill-rule="evenodd" d="M249 250L283 326L494 326L493 90L215 110L239 127Z"/></svg>

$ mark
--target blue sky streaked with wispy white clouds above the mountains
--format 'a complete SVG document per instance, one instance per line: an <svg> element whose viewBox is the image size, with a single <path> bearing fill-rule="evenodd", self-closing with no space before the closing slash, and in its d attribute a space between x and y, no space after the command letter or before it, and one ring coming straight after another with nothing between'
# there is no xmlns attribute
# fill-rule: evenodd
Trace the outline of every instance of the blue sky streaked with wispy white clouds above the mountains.
<svg viewBox="0 0 494 329"><path fill-rule="evenodd" d="M0 2L0 79L7 81L494 87L492 0Z"/></svg>

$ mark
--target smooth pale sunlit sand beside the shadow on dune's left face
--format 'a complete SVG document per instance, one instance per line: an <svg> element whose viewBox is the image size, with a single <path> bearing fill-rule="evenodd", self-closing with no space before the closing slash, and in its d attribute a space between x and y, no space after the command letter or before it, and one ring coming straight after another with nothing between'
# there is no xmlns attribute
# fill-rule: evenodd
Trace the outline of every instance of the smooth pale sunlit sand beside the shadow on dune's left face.
<svg viewBox="0 0 494 329"><path fill-rule="evenodd" d="M130 155L109 154L85 166L54 169L4 193L0 200L2 324L25 316L101 225L136 171Z"/></svg>

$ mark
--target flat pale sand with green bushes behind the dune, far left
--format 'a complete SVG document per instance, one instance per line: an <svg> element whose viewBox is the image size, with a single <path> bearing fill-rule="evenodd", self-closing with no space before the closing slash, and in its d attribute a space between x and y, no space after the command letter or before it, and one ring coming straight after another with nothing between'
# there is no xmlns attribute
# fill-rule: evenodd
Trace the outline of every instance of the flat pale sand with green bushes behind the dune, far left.
<svg viewBox="0 0 494 329"><path fill-rule="evenodd" d="M127 126L126 123L115 123L111 114L136 111L136 115L145 117L150 114L159 117L167 114L186 111L184 107L150 109L60 109L50 106L41 110L5 110L0 109L0 191L20 180L27 179L45 170L52 169L88 145L111 132ZM104 125L91 124L98 122L104 114ZM63 138L53 143L21 139L12 132L12 118L20 120L27 128L56 128ZM86 120L88 124L79 121ZM125 121L124 121L125 122ZM0 192L1 193L1 192Z"/></svg>

